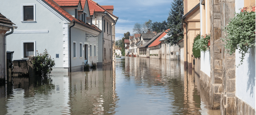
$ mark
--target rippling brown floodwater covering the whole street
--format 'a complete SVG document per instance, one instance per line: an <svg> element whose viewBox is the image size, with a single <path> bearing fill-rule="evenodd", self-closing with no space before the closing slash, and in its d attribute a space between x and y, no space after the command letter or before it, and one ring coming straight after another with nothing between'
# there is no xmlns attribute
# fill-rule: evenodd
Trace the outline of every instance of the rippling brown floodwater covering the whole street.
<svg viewBox="0 0 256 115"><path fill-rule="evenodd" d="M121 57L114 65L43 80L13 78L0 86L0 115L220 114L208 109L199 77L177 60Z"/></svg>

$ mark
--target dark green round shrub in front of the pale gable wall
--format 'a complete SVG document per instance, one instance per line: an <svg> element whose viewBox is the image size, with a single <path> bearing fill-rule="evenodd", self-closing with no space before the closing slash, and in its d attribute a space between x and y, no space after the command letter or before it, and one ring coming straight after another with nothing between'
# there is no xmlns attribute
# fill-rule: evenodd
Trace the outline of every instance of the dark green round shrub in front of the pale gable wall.
<svg viewBox="0 0 256 115"><path fill-rule="evenodd" d="M33 68L37 75L46 76L51 73L52 67L55 65L54 60L44 50L43 54L39 54L36 50L37 56L34 57Z"/></svg>

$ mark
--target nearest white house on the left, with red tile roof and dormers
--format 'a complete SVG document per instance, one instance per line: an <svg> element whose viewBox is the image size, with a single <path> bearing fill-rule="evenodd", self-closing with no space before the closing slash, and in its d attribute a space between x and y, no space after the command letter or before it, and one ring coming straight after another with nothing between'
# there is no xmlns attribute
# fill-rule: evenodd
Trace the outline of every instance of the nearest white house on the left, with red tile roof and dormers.
<svg viewBox="0 0 256 115"><path fill-rule="evenodd" d="M2 1L5 5L0 11L6 11L3 14L19 26L6 41L7 50L15 51L14 60L28 59L47 49L55 60L53 72L81 69L85 58L99 62L97 36L102 31L92 24L95 13L90 13L87 0L83 6L79 0L64 1Z"/></svg>

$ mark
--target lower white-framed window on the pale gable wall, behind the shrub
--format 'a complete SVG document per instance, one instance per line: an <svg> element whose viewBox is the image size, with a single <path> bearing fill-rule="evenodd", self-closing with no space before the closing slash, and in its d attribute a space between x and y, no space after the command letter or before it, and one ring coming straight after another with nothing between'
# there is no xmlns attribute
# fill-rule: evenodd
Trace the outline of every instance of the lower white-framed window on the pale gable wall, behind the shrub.
<svg viewBox="0 0 256 115"><path fill-rule="evenodd" d="M36 41L22 41L22 58L36 56Z"/></svg>

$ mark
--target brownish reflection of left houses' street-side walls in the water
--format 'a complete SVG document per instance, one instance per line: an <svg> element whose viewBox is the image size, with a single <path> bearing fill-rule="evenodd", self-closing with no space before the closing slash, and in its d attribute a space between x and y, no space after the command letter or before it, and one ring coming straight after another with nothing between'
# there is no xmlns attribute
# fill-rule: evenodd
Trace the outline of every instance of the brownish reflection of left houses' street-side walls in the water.
<svg viewBox="0 0 256 115"><path fill-rule="evenodd" d="M115 107L116 99L112 64L104 65L96 71L73 72L70 79L68 104L73 114L104 114L114 111L111 109Z"/></svg>

